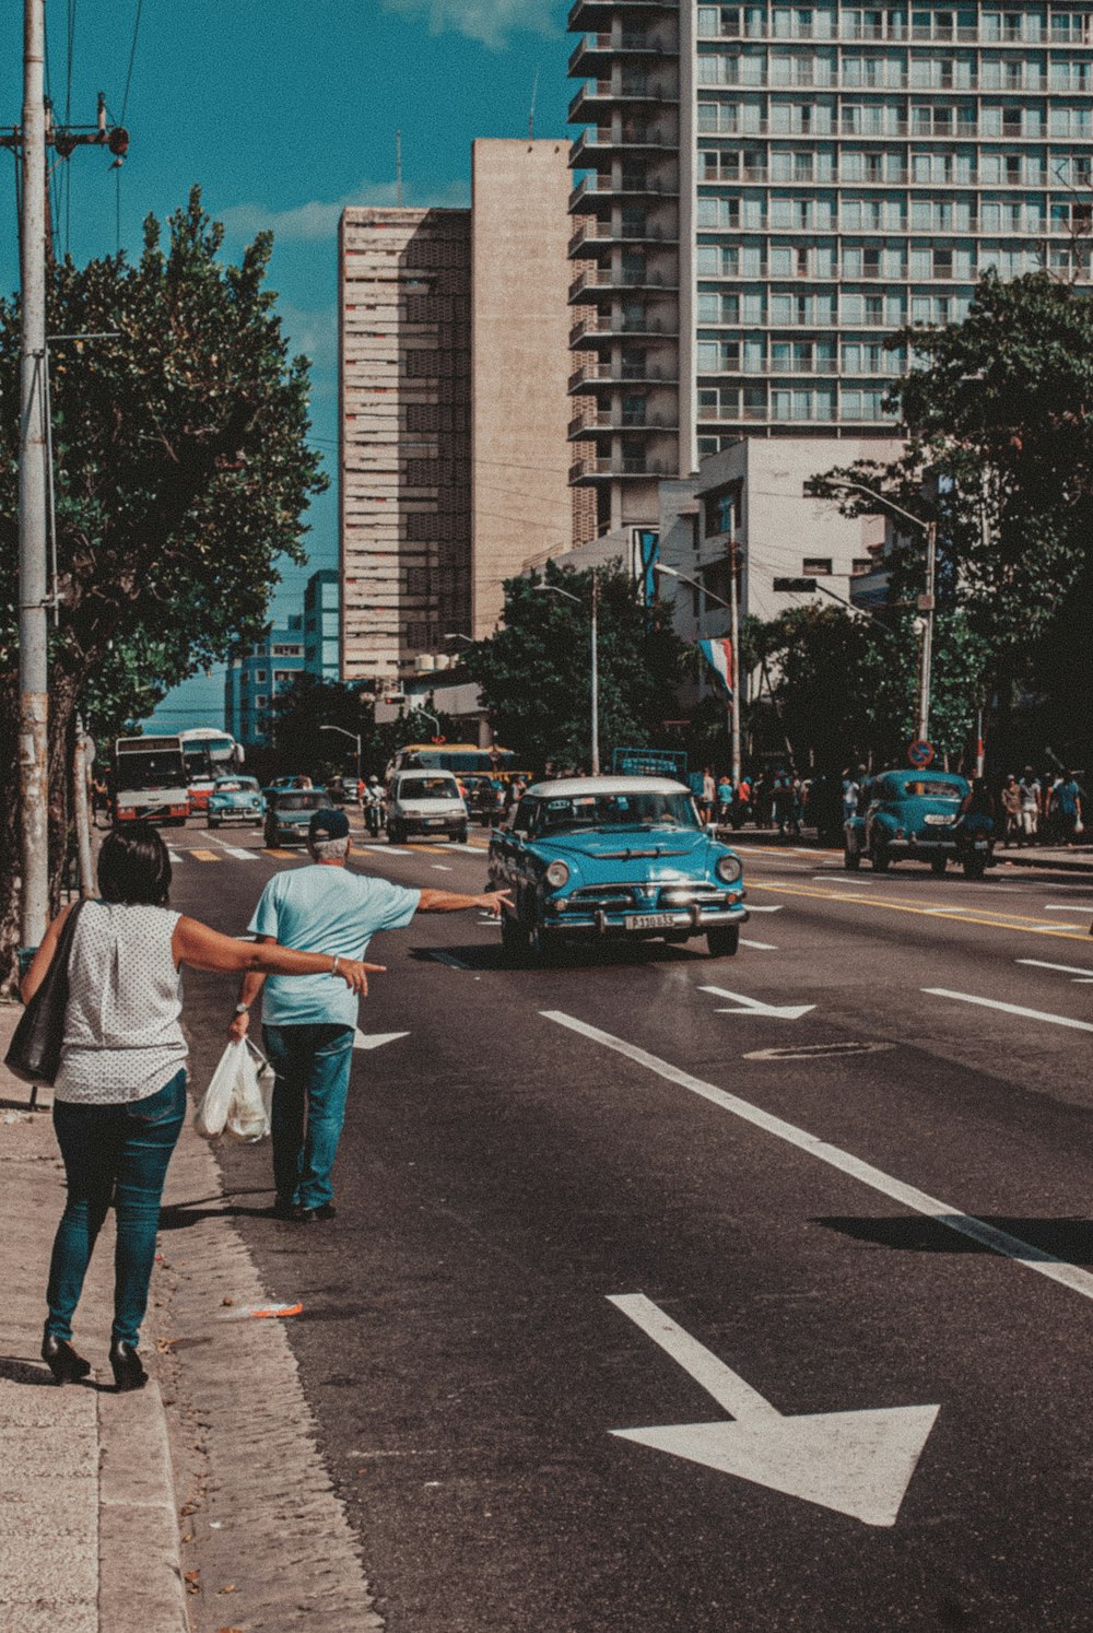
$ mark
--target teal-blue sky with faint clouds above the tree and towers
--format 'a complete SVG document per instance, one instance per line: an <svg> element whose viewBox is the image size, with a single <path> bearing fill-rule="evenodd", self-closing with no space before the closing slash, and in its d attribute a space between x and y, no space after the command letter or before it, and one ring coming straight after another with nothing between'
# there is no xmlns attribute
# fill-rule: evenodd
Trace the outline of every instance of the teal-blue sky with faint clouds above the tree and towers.
<svg viewBox="0 0 1093 1633"><path fill-rule="evenodd" d="M96 91L121 116L139 0L47 0L54 106L95 118ZM20 10L5 7L0 124L20 119ZM471 140L528 129L565 136L572 39L559 0L144 0L126 108L132 134L121 170L121 243L163 219L194 181L227 229L225 255L274 234L271 287L286 330L314 361L314 438L337 465L337 222L346 204L395 198L402 131L404 202L467 204ZM72 75L67 72L74 15ZM70 85L70 90L69 90ZM10 175L10 171L8 171ZM118 173L96 149L70 160L60 243L77 261L118 245ZM0 286L18 284L15 194L0 235ZM307 573L337 563L337 495L310 516L306 570L292 568L274 614L299 606ZM183 710L167 714L165 710ZM173 692L160 725L221 723L219 671Z"/></svg>

